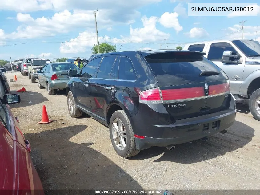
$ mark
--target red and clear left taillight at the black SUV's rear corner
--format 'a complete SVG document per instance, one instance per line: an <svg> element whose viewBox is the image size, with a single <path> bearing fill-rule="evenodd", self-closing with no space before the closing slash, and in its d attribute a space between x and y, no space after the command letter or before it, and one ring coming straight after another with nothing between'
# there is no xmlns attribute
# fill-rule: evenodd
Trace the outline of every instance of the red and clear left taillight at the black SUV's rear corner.
<svg viewBox="0 0 260 195"><path fill-rule="evenodd" d="M153 88L142 91L139 96L139 102L144 104L162 103L160 89Z"/></svg>

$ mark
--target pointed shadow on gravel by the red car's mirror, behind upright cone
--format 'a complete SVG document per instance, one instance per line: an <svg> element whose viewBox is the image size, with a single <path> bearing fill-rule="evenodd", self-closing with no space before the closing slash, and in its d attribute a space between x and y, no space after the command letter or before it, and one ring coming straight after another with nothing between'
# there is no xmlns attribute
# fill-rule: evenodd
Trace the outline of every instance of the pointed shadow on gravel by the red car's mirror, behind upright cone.
<svg viewBox="0 0 260 195"><path fill-rule="evenodd" d="M18 93L16 91L11 91L12 94L19 94L21 97L21 102L18 104L10 104L11 108L21 108L26 106L32 106L49 101L48 98L44 97L41 93L26 91Z"/></svg>

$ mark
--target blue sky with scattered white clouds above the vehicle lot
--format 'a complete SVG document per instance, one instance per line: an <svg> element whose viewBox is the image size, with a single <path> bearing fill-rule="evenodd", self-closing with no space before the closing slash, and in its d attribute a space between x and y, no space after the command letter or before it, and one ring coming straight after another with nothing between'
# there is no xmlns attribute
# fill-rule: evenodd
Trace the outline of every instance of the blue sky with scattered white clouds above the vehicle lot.
<svg viewBox="0 0 260 195"><path fill-rule="evenodd" d="M119 51L184 46L211 39L255 39L257 16L188 16L187 3L205 0L8 0L0 2L0 59L88 57L99 42ZM220 1L245 3L243 0ZM250 0L250 3L259 1ZM260 25L260 24L259 24ZM260 27L256 39L260 41Z"/></svg>

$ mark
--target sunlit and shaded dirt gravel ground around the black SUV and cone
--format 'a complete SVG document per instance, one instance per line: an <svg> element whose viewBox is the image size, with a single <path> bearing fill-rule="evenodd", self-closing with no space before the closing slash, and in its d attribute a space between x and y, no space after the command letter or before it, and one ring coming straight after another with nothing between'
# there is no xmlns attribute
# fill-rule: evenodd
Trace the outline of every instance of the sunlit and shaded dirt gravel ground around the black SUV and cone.
<svg viewBox="0 0 260 195"><path fill-rule="evenodd" d="M32 160L44 189L260 189L260 122L238 105L236 121L224 135L177 145L152 147L124 159L111 145L109 130L84 115L73 119L65 91L48 95L20 72L9 82L20 93L13 104L30 141ZM38 124L45 104L50 124Z"/></svg>

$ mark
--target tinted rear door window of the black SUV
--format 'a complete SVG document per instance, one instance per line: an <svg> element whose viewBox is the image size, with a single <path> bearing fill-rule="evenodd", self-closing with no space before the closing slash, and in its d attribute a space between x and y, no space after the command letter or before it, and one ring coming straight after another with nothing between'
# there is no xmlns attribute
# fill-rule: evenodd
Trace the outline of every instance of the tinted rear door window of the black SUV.
<svg viewBox="0 0 260 195"><path fill-rule="evenodd" d="M116 56L106 56L102 59L97 73L97 78L109 79Z"/></svg>

